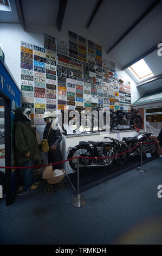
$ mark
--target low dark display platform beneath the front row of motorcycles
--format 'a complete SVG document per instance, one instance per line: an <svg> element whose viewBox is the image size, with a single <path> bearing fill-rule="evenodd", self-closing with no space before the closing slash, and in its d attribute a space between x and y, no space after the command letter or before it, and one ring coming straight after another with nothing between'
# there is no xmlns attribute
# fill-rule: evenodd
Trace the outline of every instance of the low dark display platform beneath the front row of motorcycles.
<svg viewBox="0 0 162 256"><path fill-rule="evenodd" d="M158 154L152 155L152 157L143 157L142 163L150 162L159 157ZM89 188L95 187L103 182L115 178L121 174L128 172L134 168L140 166L140 156L130 157L129 162L124 166L117 166L112 163L107 167L93 167L93 168L80 168L80 192L86 191ZM72 187L74 194L77 192L77 172L69 173L66 178Z"/></svg>

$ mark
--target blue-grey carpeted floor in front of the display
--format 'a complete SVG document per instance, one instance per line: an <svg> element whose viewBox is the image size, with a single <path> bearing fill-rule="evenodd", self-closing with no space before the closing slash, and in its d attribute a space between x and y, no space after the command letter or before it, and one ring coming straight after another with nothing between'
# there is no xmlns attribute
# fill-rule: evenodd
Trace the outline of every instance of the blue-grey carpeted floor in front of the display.
<svg viewBox="0 0 162 256"><path fill-rule="evenodd" d="M64 191L17 196L14 204L0 200L1 244L109 245L162 244L162 159L131 170L83 192L86 205L74 208ZM43 186L43 185L41 185ZM161 193L162 194L162 193Z"/></svg>

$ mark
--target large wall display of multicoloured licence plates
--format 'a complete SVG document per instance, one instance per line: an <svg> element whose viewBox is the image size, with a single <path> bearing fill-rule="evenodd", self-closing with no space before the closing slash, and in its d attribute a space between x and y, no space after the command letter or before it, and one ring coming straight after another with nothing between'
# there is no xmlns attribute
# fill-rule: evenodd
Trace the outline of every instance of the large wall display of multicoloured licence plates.
<svg viewBox="0 0 162 256"><path fill-rule="evenodd" d="M131 84L102 59L100 45L72 31L68 42L45 34L44 47L21 41L20 61L22 106L31 107L35 124L53 109L130 109Z"/></svg>

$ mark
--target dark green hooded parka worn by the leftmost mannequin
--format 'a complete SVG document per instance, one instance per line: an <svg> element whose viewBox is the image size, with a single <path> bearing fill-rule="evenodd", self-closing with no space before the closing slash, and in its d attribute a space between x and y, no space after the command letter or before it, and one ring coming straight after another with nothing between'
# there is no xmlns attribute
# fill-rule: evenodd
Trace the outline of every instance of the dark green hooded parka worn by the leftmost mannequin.
<svg viewBox="0 0 162 256"><path fill-rule="evenodd" d="M31 127L31 121L23 115L24 109L18 108L15 113L14 151L16 164L19 166L40 153L35 131ZM29 152L30 157L25 157Z"/></svg>

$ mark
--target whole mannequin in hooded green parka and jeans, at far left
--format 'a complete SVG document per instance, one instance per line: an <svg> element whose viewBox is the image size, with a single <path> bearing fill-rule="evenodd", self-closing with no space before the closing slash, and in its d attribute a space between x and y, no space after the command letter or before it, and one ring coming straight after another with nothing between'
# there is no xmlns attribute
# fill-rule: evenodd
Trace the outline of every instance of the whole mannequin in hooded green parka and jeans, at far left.
<svg viewBox="0 0 162 256"><path fill-rule="evenodd" d="M15 112L15 160L17 166L34 166L34 157L40 152L36 134L31 127L30 109L20 107ZM23 186L29 189L37 188L32 168L22 169Z"/></svg>

